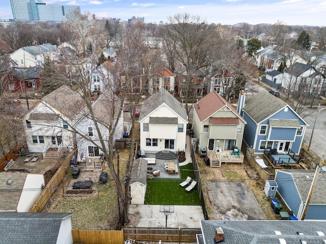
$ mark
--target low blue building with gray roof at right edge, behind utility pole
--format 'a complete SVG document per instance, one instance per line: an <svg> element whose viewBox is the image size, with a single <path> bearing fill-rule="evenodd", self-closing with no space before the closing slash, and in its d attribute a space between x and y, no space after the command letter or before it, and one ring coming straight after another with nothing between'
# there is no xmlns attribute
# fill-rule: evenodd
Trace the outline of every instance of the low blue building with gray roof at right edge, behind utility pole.
<svg viewBox="0 0 326 244"><path fill-rule="evenodd" d="M315 170L277 170L278 192L297 219L306 208ZM326 173L320 173L311 196L305 220L326 220Z"/></svg>

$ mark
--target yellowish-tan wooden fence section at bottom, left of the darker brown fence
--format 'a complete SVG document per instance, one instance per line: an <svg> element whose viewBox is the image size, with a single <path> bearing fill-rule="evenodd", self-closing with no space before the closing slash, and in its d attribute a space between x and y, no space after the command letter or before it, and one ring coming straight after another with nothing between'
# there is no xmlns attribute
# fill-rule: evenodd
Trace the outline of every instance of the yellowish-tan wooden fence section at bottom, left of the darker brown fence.
<svg viewBox="0 0 326 244"><path fill-rule="evenodd" d="M71 230L73 242L123 244L123 230Z"/></svg>

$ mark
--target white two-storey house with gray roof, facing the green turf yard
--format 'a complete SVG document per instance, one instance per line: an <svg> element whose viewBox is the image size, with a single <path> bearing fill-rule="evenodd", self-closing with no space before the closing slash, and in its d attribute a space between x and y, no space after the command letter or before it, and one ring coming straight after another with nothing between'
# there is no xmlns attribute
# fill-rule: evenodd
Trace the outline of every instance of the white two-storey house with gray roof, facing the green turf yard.
<svg viewBox="0 0 326 244"><path fill-rule="evenodd" d="M185 149L188 117L183 105L167 90L160 89L144 101L139 117L141 150L157 153Z"/></svg>

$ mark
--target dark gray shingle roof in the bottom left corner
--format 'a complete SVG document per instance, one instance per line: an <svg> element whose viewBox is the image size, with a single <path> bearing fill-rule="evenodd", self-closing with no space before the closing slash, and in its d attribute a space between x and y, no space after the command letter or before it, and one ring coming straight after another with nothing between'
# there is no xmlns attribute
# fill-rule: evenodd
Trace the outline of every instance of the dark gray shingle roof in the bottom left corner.
<svg viewBox="0 0 326 244"><path fill-rule="evenodd" d="M72 215L65 212L0 212L1 243L56 244L62 220Z"/></svg>

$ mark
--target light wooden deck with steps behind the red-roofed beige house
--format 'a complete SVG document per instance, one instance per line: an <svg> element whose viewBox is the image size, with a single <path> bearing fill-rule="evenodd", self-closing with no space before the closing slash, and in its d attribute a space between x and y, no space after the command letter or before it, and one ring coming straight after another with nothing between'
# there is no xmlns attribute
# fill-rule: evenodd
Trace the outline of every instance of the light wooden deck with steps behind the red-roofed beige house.
<svg viewBox="0 0 326 244"><path fill-rule="evenodd" d="M244 155L238 150L238 155L232 155L233 150L209 150L207 148L207 157L210 161L210 167L221 167L222 163L242 164Z"/></svg>

